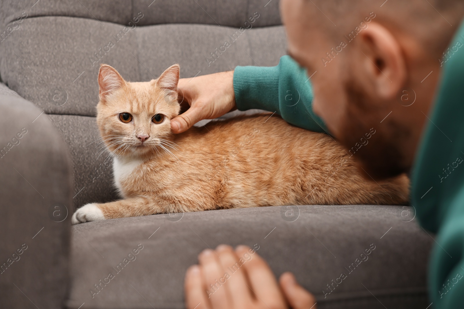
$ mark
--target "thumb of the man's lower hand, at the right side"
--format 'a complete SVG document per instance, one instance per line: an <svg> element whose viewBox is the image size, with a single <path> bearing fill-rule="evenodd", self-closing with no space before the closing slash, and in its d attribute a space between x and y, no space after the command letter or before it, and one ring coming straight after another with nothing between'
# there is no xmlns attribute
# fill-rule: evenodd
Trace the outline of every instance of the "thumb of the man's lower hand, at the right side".
<svg viewBox="0 0 464 309"><path fill-rule="evenodd" d="M284 272L279 280L285 298L293 309L316 309L316 299L296 282L291 272Z"/></svg>

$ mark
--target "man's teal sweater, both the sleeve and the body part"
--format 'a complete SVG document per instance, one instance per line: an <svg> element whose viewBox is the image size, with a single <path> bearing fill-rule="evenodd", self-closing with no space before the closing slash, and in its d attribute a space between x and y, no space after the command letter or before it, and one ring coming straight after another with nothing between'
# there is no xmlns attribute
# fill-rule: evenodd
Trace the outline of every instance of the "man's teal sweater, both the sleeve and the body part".
<svg viewBox="0 0 464 309"><path fill-rule="evenodd" d="M464 308L464 23L450 50L454 54L443 59L440 90L411 179L419 224L437 234L428 280L432 307L440 309ZM236 67L233 86L239 110L264 109L293 125L327 132L312 111L306 72L288 56L276 67Z"/></svg>

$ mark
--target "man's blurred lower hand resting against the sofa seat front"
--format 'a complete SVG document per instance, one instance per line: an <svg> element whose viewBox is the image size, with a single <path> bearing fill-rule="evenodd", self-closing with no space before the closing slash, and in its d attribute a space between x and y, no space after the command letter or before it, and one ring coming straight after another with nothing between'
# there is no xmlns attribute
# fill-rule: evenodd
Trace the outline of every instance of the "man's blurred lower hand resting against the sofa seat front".
<svg viewBox="0 0 464 309"><path fill-rule="evenodd" d="M220 245L198 256L185 277L187 309L315 309L315 299L290 272L277 283L267 263L247 246Z"/></svg>

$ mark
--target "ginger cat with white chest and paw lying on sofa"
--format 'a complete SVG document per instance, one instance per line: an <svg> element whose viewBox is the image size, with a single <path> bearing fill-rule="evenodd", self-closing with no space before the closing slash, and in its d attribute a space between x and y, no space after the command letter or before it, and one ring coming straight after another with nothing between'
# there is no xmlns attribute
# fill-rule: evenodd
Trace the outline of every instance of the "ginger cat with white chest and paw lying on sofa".
<svg viewBox="0 0 464 309"><path fill-rule="evenodd" d="M126 82L100 67L97 123L123 199L84 205L73 224L272 205L406 204L406 175L367 180L329 135L277 115L213 121L174 135L178 80L177 64L150 82Z"/></svg>

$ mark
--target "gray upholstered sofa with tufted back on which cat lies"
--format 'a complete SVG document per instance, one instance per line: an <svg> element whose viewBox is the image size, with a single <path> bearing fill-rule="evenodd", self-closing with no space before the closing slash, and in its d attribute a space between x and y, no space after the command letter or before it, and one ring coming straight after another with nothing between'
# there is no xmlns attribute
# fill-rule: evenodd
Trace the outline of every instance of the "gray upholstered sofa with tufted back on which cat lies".
<svg viewBox="0 0 464 309"><path fill-rule="evenodd" d="M174 63L181 77L276 65L286 47L277 0L1 0L0 23L0 308L184 308L187 267L221 243L258 246L318 308L430 304L433 239L413 208L275 206L71 227L78 207L117 198L96 147L99 64L129 81Z"/></svg>

